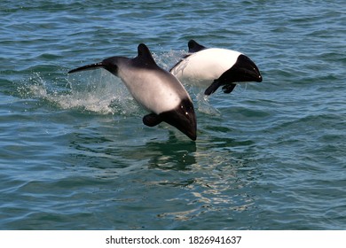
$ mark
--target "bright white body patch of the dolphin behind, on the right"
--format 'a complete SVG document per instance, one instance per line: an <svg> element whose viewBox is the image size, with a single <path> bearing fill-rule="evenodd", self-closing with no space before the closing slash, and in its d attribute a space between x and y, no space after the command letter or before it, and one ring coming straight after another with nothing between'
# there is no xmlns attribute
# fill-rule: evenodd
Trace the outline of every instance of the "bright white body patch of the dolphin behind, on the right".
<svg viewBox="0 0 346 248"><path fill-rule="evenodd" d="M170 73L181 81L208 87L237 62L240 54L239 51L220 48L200 50L184 58Z"/></svg>

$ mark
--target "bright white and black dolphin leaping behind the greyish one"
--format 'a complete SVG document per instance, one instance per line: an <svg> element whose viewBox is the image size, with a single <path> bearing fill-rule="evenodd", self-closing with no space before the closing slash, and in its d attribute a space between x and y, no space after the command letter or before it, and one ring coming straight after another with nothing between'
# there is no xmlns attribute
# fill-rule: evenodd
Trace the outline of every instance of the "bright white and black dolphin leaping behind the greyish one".
<svg viewBox="0 0 346 248"><path fill-rule="evenodd" d="M220 86L224 93L231 93L240 81L262 81L255 63L239 51L206 48L193 40L188 47L189 54L169 72L180 81L207 88L205 95L211 95Z"/></svg>

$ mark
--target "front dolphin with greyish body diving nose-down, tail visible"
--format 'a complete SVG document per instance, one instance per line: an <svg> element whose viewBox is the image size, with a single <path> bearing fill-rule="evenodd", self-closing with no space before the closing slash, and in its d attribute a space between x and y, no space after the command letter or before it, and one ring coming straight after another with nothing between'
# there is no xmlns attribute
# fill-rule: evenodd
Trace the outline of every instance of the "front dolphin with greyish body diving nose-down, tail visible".
<svg viewBox="0 0 346 248"><path fill-rule="evenodd" d="M96 68L104 68L120 77L138 104L151 112L143 118L146 126L153 127L164 121L196 140L197 124L191 97L175 76L156 65L145 44L138 45L136 58L106 58L68 74Z"/></svg>

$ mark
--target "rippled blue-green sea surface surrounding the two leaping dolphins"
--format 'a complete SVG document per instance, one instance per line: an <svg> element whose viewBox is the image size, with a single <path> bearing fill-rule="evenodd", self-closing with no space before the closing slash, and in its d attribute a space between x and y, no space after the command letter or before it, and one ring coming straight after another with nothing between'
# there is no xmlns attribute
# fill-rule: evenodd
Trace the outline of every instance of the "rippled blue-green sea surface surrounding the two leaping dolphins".
<svg viewBox="0 0 346 248"><path fill-rule="evenodd" d="M138 43L169 69L190 39L263 75L186 86L196 142L67 74ZM345 78L343 0L1 1L0 229L346 229Z"/></svg>

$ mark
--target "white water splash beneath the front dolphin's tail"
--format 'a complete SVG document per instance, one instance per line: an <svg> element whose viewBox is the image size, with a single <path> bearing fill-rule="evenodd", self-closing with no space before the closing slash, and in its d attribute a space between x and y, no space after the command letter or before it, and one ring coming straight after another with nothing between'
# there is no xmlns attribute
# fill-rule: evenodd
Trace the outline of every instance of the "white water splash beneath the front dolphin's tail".
<svg viewBox="0 0 346 248"><path fill-rule="evenodd" d="M122 81L104 70L68 75L65 89L44 81L41 74L33 74L29 82L25 87L27 95L46 99L63 109L125 115L139 110Z"/></svg>

